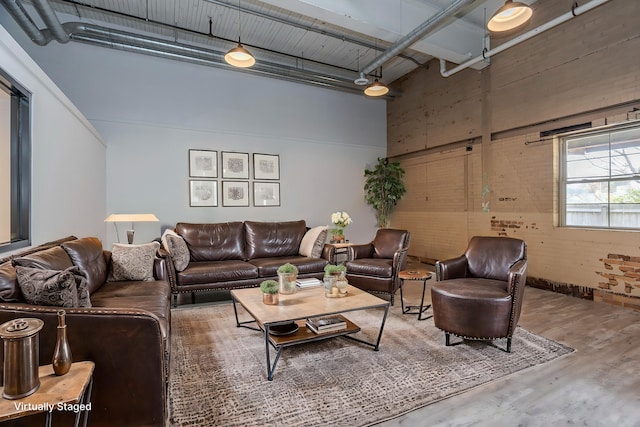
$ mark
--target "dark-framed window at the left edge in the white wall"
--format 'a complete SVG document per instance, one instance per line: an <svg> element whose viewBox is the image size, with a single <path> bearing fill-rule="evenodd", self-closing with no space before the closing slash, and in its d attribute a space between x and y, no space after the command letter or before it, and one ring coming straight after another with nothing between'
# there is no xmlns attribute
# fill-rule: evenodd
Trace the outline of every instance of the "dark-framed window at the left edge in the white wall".
<svg viewBox="0 0 640 427"><path fill-rule="evenodd" d="M30 244L30 97L0 70L0 252Z"/></svg>

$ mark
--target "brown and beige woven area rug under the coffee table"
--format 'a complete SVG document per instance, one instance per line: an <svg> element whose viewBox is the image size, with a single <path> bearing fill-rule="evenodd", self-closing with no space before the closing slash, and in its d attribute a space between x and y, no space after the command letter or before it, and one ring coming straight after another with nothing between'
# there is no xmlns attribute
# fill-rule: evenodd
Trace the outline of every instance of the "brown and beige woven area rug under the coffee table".
<svg viewBox="0 0 640 427"><path fill-rule="evenodd" d="M382 311L347 317L373 340ZM522 328L512 353L446 347L433 319L392 307L379 351L344 337L285 348L267 381L263 335L237 328L231 303L174 310L171 339L172 426L371 425L573 351Z"/></svg>

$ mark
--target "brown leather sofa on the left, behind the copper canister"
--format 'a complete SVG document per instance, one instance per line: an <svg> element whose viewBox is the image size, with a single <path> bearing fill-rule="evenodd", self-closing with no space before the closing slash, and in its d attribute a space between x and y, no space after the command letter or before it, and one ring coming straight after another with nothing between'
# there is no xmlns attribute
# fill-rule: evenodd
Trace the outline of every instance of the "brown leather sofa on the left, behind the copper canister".
<svg viewBox="0 0 640 427"><path fill-rule="evenodd" d="M97 238L68 237L1 259L0 324L20 317L42 319L40 365L50 364L59 307L24 302L11 260L51 270L79 267L87 277L92 307L64 310L73 360L95 363L89 425L164 426L171 326L165 260L155 259L156 280L107 282L110 255ZM0 359L0 370L3 367ZM73 415L54 413L54 425L73 425ZM41 426L44 417L33 415L6 425Z"/></svg>

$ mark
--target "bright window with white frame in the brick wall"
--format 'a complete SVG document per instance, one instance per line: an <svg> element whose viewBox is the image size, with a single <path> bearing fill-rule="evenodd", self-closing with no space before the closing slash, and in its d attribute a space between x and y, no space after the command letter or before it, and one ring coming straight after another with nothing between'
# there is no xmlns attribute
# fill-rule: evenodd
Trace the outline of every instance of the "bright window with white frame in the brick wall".
<svg viewBox="0 0 640 427"><path fill-rule="evenodd" d="M560 137L561 225L640 229L640 123Z"/></svg>

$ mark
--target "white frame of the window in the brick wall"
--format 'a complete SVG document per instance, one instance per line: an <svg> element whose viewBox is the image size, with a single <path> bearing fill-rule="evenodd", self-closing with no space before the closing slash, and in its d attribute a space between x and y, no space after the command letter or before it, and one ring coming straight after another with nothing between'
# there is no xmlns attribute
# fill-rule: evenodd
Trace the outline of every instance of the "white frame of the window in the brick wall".
<svg viewBox="0 0 640 427"><path fill-rule="evenodd" d="M612 230L612 231L640 231L640 225L638 227L621 227L617 225L611 225L611 213L612 213L612 202L611 202L611 183L615 182L623 182L633 180L640 180L640 172L635 174L627 174L627 175L613 175L611 173L611 168L609 168L608 176L591 176L591 177L582 177L582 178L567 178L567 142L571 139L575 139L577 137L588 137L588 136L598 136L598 135L609 135L609 149L608 149L608 159L609 164L611 165L612 158L612 150L611 150L611 134L616 132L625 131L629 129L640 129L640 120L633 120L624 123L617 123L613 125L605 125L596 128L589 128L586 130L579 130L564 134L556 135L558 141L558 152L559 152L559 179L558 179L558 226L563 228L582 228L582 229L597 229L597 230ZM640 149L640 142L637 144L637 147ZM606 201L606 209L607 209L607 225L576 225L576 224L567 224L567 185L568 184L580 184L580 183L605 183L607 185L607 201ZM605 202L601 203L602 205Z"/></svg>

